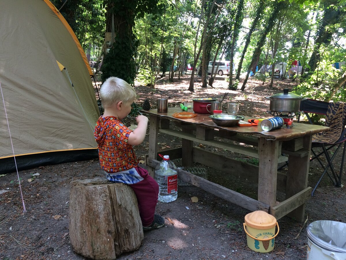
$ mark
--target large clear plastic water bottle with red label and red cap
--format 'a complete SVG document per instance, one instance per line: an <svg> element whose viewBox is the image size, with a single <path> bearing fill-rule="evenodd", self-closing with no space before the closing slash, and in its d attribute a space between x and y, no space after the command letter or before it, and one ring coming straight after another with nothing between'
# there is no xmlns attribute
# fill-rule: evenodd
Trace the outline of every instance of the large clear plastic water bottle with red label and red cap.
<svg viewBox="0 0 346 260"><path fill-rule="evenodd" d="M155 181L158 184L158 200L171 202L178 197L177 168L169 155L162 156L163 161L155 168Z"/></svg>

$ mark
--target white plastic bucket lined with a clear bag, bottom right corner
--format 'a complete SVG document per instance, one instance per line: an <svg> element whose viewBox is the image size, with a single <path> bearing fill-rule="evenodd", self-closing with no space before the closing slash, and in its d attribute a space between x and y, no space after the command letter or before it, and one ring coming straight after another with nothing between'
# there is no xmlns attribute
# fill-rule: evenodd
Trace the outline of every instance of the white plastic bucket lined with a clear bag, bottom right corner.
<svg viewBox="0 0 346 260"><path fill-rule="evenodd" d="M307 227L307 236L307 259L346 259L346 223L318 220Z"/></svg>

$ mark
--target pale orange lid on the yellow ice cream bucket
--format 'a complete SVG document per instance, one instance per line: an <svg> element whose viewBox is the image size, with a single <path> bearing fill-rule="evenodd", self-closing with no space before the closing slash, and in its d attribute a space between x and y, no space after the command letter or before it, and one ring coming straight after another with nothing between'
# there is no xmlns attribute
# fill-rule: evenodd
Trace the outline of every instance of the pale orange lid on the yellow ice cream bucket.
<svg viewBox="0 0 346 260"><path fill-rule="evenodd" d="M275 227L276 218L262 210L257 210L245 216L245 224L257 229L269 229Z"/></svg>

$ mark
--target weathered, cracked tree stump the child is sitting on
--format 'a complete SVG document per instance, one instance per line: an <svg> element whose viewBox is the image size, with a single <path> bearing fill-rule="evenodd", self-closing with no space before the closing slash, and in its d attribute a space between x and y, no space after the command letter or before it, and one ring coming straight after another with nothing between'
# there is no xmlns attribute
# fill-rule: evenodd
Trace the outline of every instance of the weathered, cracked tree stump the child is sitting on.
<svg viewBox="0 0 346 260"><path fill-rule="evenodd" d="M137 198L124 183L105 178L71 182L70 240L75 252L91 259L116 259L143 242Z"/></svg>

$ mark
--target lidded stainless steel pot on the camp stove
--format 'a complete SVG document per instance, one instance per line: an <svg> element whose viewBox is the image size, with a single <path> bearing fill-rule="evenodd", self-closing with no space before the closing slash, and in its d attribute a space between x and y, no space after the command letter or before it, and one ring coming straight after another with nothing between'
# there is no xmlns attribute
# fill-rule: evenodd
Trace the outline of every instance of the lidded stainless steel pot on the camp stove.
<svg viewBox="0 0 346 260"><path fill-rule="evenodd" d="M270 100L270 111L274 112L298 112L300 101L305 100L300 95L288 93L288 88L284 88L283 93L277 93L271 97L266 97Z"/></svg>

